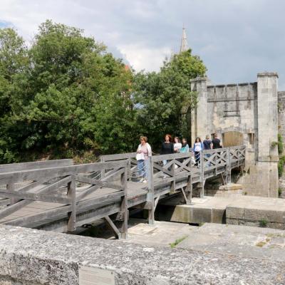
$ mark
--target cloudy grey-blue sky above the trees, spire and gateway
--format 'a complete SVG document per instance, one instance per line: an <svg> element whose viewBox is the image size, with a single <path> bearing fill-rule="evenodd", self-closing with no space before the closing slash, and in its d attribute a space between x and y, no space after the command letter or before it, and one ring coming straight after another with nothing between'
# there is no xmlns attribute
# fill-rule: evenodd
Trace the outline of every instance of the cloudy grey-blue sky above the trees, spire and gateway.
<svg viewBox="0 0 285 285"><path fill-rule="evenodd" d="M83 28L136 71L157 71L179 51L184 24L213 83L277 71L285 90L284 0L0 0L0 27L15 27L27 41L46 19Z"/></svg>

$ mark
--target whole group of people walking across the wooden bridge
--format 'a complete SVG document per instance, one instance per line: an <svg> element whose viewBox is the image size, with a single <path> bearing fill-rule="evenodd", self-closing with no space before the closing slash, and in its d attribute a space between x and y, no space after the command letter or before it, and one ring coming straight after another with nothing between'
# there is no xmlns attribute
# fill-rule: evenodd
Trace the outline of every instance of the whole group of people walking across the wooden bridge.
<svg viewBox="0 0 285 285"><path fill-rule="evenodd" d="M213 135L213 139L211 140L209 135L206 135L206 138L202 141L201 138L197 137L193 148L190 149L187 144L187 140L182 138L182 142L178 137L174 138L174 142L172 142L172 136L167 134L165 135L165 141L162 142L160 155L170 155L172 153L183 153L189 152L192 150L195 155L195 165L199 165L200 161L200 152L202 150L212 150L216 148L222 147L222 142L217 137L215 133ZM147 143L147 137L140 137L140 145L138 146L136 159L138 160L138 176L140 177L140 182L146 183L148 177L148 157L152 156L152 149L150 144ZM167 164L167 160L162 160L163 165Z"/></svg>

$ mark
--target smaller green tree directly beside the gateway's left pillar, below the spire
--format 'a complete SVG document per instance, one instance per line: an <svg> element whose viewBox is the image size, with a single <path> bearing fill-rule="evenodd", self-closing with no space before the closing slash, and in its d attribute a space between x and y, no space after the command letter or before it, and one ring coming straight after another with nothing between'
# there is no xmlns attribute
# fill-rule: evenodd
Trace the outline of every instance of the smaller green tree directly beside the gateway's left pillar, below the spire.
<svg viewBox="0 0 285 285"><path fill-rule="evenodd" d="M191 50L165 61L158 73L135 76L135 100L138 104L138 128L155 148L165 133L190 138L190 110L197 103L190 91L190 79L204 76L207 68Z"/></svg>

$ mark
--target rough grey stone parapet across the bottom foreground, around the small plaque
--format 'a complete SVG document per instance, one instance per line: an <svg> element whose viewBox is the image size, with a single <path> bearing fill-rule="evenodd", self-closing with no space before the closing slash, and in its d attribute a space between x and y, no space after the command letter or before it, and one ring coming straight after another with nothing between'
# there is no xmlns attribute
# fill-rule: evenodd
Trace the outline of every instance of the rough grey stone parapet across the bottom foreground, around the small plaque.
<svg viewBox="0 0 285 285"><path fill-rule="evenodd" d="M281 261L0 226L0 281L78 285L81 265L113 271L116 285L285 282Z"/></svg>

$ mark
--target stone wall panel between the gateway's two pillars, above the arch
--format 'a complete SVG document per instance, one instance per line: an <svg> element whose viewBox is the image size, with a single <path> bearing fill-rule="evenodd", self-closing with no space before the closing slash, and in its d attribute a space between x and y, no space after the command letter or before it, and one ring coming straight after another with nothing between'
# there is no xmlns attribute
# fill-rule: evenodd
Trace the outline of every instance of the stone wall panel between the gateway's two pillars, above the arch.
<svg viewBox="0 0 285 285"><path fill-rule="evenodd" d="M227 131L240 132L247 148L254 150L257 83L207 86L207 95L209 134L217 133L222 138Z"/></svg>

